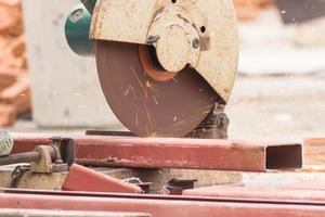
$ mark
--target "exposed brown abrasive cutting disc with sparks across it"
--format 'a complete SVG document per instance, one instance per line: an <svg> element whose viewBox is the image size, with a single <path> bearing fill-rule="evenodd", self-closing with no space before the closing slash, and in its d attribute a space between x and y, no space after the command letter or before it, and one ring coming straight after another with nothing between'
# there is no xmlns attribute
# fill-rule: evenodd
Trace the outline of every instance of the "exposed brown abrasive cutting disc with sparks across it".
<svg viewBox="0 0 325 217"><path fill-rule="evenodd" d="M117 118L140 137L183 137L214 107L217 93L193 68L167 80L148 76L134 43L98 41L96 65Z"/></svg>

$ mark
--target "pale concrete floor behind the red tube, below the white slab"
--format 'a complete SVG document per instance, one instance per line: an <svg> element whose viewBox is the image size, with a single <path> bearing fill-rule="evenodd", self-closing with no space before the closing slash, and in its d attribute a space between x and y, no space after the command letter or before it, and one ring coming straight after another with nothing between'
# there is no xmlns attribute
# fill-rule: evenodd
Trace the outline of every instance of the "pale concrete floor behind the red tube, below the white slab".
<svg viewBox="0 0 325 217"><path fill-rule="evenodd" d="M325 78L321 76L239 77L226 107L230 138L302 141L307 137L325 136L323 99ZM21 120L8 130L66 135L83 133L86 129L43 129Z"/></svg>

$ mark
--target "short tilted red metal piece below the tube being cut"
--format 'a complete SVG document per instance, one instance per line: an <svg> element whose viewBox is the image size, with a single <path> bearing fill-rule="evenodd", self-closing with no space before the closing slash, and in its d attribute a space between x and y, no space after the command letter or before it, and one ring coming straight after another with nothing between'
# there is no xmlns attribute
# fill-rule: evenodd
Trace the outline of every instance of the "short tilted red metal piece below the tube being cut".
<svg viewBox="0 0 325 217"><path fill-rule="evenodd" d="M70 166L62 188L66 191L141 193L141 188L136 184L123 182L76 164Z"/></svg>

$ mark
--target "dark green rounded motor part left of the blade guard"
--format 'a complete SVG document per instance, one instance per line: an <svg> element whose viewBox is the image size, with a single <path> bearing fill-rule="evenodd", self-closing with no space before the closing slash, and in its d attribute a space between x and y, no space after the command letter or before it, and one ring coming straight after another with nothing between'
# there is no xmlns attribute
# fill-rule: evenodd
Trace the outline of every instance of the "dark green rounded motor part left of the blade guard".
<svg viewBox="0 0 325 217"><path fill-rule="evenodd" d="M89 10L93 10L91 2L94 3L95 1L83 2L87 3L84 5ZM94 50L93 41L89 38L91 14L84 5L78 4L70 11L65 23L65 37L70 49L76 54L91 56Z"/></svg>

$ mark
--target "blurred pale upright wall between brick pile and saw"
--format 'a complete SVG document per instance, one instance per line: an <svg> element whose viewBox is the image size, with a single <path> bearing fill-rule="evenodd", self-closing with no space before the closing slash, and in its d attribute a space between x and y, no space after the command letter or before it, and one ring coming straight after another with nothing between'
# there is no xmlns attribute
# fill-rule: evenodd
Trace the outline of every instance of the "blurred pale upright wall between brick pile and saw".
<svg viewBox="0 0 325 217"><path fill-rule="evenodd" d="M78 0L24 0L34 119L40 127L116 127L94 59L74 54L64 23Z"/></svg>

